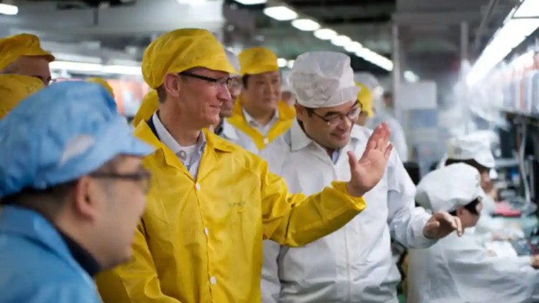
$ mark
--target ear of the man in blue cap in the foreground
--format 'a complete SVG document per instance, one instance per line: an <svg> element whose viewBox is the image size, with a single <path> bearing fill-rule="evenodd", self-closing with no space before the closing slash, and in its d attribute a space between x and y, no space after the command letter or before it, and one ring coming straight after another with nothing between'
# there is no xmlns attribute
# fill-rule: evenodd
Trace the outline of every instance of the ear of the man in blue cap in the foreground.
<svg viewBox="0 0 539 303"><path fill-rule="evenodd" d="M89 176L82 176L74 186L74 211L79 216L95 220L99 213L99 191L96 182Z"/></svg>

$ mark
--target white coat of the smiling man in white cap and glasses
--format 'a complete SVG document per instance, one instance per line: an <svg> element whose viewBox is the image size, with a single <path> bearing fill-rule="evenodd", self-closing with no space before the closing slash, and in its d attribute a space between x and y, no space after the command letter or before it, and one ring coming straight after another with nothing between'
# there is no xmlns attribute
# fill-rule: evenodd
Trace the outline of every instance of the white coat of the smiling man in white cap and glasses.
<svg viewBox="0 0 539 303"><path fill-rule="evenodd" d="M260 156L292 193L311 195L332 181L350 180L346 153L354 151L359 159L371 133L356 125L333 164L294 121ZM367 208L345 227L301 248L264 241L262 302L398 302L400 274L391 256L390 234L410 247L435 243L423 236L430 215L414 208L415 192L399 156L392 153L382 181L365 195Z"/></svg>

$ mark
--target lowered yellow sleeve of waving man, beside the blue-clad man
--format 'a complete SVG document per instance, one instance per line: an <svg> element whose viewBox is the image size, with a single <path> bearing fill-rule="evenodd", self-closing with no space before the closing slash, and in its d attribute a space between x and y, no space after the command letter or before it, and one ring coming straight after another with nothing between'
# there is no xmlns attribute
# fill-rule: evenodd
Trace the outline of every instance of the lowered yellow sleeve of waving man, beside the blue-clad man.
<svg viewBox="0 0 539 303"><path fill-rule="evenodd" d="M133 258L96 278L104 303L181 303L163 295L152 255L146 244L144 223L135 231Z"/></svg>

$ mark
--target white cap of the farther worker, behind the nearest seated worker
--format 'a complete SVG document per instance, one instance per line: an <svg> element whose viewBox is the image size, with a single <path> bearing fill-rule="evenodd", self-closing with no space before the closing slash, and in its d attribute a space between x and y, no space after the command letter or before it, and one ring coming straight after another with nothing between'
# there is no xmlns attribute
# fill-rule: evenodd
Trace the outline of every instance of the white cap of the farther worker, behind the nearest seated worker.
<svg viewBox="0 0 539 303"><path fill-rule="evenodd" d="M494 154L490 142L480 133L452 138L448 141L448 159L475 160L486 168L494 168Z"/></svg>

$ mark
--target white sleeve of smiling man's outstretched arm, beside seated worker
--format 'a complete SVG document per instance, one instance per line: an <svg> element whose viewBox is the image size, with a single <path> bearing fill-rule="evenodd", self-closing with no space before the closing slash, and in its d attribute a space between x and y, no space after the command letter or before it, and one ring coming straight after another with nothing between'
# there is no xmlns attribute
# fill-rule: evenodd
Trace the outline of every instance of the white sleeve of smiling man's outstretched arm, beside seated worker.
<svg viewBox="0 0 539 303"><path fill-rule="evenodd" d="M416 186L404 169L399 156L392 152L387 168L388 225L391 237L407 248L427 248L436 243L423 235L430 215L416 207Z"/></svg>

